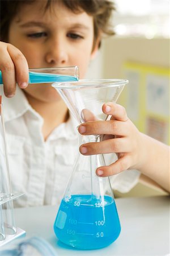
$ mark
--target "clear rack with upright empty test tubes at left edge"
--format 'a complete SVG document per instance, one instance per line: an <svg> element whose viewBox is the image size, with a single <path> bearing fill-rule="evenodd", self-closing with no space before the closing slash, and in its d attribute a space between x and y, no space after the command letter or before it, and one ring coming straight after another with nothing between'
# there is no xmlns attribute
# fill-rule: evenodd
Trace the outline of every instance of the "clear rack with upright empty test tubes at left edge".
<svg viewBox="0 0 170 256"><path fill-rule="evenodd" d="M14 217L13 200L21 195L23 193L12 193L11 189L2 96L0 95L0 246L25 235L24 230L16 228Z"/></svg>

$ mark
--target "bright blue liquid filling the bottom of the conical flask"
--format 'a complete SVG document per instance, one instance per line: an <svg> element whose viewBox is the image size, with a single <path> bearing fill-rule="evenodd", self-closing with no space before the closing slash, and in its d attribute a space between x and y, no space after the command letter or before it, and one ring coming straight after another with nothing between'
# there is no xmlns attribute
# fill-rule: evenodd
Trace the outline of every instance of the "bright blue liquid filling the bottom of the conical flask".
<svg viewBox="0 0 170 256"><path fill-rule="evenodd" d="M54 222L58 239L78 249L99 249L110 245L121 231L112 197L104 202L91 195L73 195L63 199Z"/></svg>

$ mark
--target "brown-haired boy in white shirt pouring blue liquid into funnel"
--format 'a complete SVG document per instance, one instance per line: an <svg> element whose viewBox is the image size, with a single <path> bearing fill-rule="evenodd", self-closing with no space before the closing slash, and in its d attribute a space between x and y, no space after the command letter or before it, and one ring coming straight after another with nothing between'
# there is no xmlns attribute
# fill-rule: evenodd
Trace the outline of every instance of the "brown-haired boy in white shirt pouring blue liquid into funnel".
<svg viewBox="0 0 170 256"><path fill-rule="evenodd" d="M28 67L78 65L82 79L102 36L113 34L112 10L113 3L107 0L1 1L0 69L8 97L3 104L11 180L14 190L25 193L17 206L59 203L77 149L74 118L54 88L27 86ZM168 147L139 133L121 106L110 102L103 112L112 115L111 121L79 126L85 135L110 134L104 142L82 145L82 154L118 155L115 163L98 168L97 175L134 168L168 191ZM112 177L112 187L126 192L139 175L135 170L121 172Z"/></svg>

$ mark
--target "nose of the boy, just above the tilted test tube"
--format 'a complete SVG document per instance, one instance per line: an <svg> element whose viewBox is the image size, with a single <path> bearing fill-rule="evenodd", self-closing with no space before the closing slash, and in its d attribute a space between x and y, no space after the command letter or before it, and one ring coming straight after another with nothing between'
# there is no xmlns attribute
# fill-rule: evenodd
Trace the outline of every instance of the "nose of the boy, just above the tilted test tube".
<svg viewBox="0 0 170 256"><path fill-rule="evenodd" d="M51 43L46 52L45 59L48 64L65 65L68 61L65 45L62 42Z"/></svg>

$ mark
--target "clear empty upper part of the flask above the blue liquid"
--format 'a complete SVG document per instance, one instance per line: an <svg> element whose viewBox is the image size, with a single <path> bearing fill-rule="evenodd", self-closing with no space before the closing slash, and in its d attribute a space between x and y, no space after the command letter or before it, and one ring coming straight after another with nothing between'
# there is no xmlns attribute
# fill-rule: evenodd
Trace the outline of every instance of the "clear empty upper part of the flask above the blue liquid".
<svg viewBox="0 0 170 256"><path fill-rule="evenodd" d="M102 135L79 134L79 146L84 143L100 142L101 139ZM96 168L101 166L105 166L103 154L82 155L79 152L65 196L92 195L92 198L102 198L102 200L104 196L113 197L109 178L96 175Z"/></svg>

